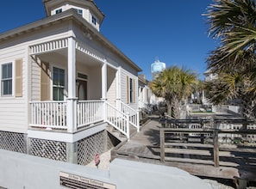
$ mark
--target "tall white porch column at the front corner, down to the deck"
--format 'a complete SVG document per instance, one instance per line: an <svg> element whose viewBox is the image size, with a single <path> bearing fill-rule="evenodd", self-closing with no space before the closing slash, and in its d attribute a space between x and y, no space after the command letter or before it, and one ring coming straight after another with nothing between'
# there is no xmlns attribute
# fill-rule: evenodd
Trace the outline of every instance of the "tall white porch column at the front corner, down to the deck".
<svg viewBox="0 0 256 189"><path fill-rule="evenodd" d="M66 124L67 131L77 131L77 101L76 97L76 41L71 37L68 38L67 54L67 80L68 96L66 99Z"/></svg>

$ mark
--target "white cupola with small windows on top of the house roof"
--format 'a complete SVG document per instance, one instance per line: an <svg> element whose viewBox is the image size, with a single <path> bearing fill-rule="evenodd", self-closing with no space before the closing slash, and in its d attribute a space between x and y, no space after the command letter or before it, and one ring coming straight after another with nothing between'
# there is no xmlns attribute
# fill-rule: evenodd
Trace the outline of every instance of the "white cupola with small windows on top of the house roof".
<svg viewBox="0 0 256 189"><path fill-rule="evenodd" d="M93 0L43 0L47 16L60 14L68 9L75 9L86 21L99 31L103 22L103 12Z"/></svg>

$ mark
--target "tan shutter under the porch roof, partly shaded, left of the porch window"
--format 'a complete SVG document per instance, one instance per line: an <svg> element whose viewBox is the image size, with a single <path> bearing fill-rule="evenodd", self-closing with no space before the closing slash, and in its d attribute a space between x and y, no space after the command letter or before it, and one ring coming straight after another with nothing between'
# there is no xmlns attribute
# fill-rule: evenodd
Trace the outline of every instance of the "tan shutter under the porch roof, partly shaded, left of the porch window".
<svg viewBox="0 0 256 189"><path fill-rule="evenodd" d="M41 101L50 100L49 63L41 63Z"/></svg>

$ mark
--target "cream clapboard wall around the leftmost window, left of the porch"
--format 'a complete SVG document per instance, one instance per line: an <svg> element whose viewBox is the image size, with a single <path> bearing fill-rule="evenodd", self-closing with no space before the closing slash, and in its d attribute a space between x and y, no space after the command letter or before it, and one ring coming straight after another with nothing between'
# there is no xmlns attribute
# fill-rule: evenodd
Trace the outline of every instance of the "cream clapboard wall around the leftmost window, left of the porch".
<svg viewBox="0 0 256 189"><path fill-rule="evenodd" d="M16 60L22 59L22 95L15 97L15 74L13 74L13 95L0 96L0 130L25 132L28 129L28 94L26 86L27 46L17 45L0 50L0 64L12 62L13 73L16 69ZM1 67L2 69L2 67ZM0 70L1 70L0 69Z"/></svg>

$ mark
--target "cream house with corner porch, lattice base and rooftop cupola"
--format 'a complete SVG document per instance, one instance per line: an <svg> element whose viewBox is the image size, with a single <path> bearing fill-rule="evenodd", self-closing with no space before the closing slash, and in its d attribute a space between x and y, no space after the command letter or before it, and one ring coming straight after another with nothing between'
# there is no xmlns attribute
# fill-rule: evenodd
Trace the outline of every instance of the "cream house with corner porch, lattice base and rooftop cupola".
<svg viewBox="0 0 256 189"><path fill-rule="evenodd" d="M140 67L99 29L92 0L44 0L47 17L0 34L0 148L86 164L107 125L139 131Z"/></svg>

